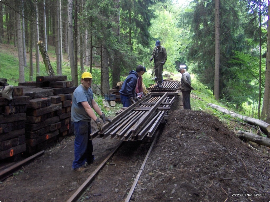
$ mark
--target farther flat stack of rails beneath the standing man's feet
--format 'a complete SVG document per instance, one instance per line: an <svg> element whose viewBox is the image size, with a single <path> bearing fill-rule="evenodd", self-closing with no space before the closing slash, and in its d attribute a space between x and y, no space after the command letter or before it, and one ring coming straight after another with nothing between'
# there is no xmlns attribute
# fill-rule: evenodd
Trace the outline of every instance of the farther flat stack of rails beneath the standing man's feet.
<svg viewBox="0 0 270 202"><path fill-rule="evenodd" d="M180 82L175 80L164 80L161 88L156 88L155 85L151 85L147 90L149 92L176 92L180 90Z"/></svg>

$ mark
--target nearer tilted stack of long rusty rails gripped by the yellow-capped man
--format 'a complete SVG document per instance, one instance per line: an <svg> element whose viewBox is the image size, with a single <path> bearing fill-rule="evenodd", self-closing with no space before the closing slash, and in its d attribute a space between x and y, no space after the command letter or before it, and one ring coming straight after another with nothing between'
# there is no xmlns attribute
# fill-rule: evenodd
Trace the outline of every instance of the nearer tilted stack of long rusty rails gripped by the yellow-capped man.
<svg viewBox="0 0 270 202"><path fill-rule="evenodd" d="M136 102L136 105L124 108L111 123L106 123L102 131L94 131L96 137L118 138L123 141L142 140L152 137L158 125L167 120L170 106L175 100L175 93L150 93Z"/></svg>

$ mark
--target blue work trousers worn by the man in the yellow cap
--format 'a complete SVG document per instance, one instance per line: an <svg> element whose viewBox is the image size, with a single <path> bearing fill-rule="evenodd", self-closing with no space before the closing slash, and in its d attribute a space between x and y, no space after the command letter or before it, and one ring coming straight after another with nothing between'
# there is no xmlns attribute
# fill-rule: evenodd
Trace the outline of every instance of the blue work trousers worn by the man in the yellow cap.
<svg viewBox="0 0 270 202"><path fill-rule="evenodd" d="M74 161L72 168L76 169L93 162L94 155L93 144L89 134L91 134L91 122L79 121L71 122L72 128L74 129L75 140L74 140Z"/></svg>

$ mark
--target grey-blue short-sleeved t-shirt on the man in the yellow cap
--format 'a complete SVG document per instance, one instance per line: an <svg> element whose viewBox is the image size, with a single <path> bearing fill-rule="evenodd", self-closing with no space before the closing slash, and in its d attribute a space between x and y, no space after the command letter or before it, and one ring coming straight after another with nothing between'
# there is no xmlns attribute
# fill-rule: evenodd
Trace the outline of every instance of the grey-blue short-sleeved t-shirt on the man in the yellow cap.
<svg viewBox="0 0 270 202"><path fill-rule="evenodd" d="M93 91L91 88L86 90L83 88L82 84L79 85L73 92L72 95L72 105L71 105L71 121L87 121L90 122L91 118L85 111L81 102L88 102L90 107L92 107Z"/></svg>

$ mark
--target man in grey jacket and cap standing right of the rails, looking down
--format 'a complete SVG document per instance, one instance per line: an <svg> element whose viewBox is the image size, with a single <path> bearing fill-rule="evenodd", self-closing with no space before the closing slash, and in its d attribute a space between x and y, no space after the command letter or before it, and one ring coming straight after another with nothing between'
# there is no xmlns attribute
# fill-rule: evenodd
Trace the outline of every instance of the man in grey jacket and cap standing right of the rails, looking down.
<svg viewBox="0 0 270 202"><path fill-rule="evenodd" d="M178 72L182 74L181 77L181 92L182 92L182 99L183 99L183 105L184 109L191 109L190 108L190 91L194 90L191 87L191 79L190 74L186 71L184 67L180 67Z"/></svg>

